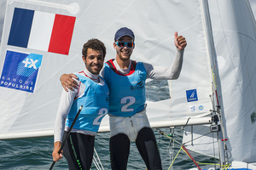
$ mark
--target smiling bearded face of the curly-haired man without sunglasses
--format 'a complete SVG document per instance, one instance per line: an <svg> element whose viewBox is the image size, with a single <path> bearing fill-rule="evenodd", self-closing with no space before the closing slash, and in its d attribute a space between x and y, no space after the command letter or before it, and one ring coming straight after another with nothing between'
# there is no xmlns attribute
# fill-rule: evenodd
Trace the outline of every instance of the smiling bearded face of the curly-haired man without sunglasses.
<svg viewBox="0 0 256 170"><path fill-rule="evenodd" d="M104 56L102 50L97 51L92 48L88 48L87 56L83 55L84 64L88 71L94 75L98 75L102 70L104 63Z"/></svg>

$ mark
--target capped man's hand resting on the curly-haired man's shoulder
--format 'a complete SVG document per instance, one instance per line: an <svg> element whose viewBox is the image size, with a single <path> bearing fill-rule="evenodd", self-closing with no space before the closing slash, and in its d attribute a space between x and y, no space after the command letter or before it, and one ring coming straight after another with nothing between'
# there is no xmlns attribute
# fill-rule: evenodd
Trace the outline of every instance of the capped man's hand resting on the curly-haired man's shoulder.
<svg viewBox="0 0 256 170"><path fill-rule="evenodd" d="M70 90L73 90L73 88L78 88L78 83L73 79L73 78L75 78L75 79L79 79L77 76L75 76L73 73L71 73L71 74L63 74L63 75L61 75L61 78L60 78L60 80L61 80L61 85L62 85L62 87L66 90L66 91L68 91L67 90L67 88L69 88Z"/></svg>

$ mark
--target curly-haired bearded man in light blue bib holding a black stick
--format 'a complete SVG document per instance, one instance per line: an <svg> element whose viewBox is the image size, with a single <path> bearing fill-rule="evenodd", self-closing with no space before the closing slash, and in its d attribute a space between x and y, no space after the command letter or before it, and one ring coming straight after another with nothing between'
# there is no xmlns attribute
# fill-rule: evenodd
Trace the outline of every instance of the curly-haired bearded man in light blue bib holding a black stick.
<svg viewBox="0 0 256 170"><path fill-rule="evenodd" d="M55 149L52 156L54 161L61 159L62 152L59 154L58 151L61 148L62 139L65 139L80 105L83 105L83 110L67 139L67 144L64 145L63 153L69 169L90 170L95 135L103 116L108 114L109 89L104 79L99 76L106 48L103 42L90 39L84 43L82 54L85 69L75 74L79 78L75 80L79 88L67 92L63 89L61 94L55 120Z"/></svg>

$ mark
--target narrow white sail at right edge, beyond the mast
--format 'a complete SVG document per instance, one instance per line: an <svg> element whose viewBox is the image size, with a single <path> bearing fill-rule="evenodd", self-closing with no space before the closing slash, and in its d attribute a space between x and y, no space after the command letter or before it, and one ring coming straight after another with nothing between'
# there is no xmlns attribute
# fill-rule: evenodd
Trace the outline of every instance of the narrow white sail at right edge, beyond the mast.
<svg viewBox="0 0 256 170"><path fill-rule="evenodd" d="M256 111L256 27L248 3L230 1L229 5L232 7L230 11L218 5L219 13L232 17L212 20L214 41L224 42L222 47L216 45L217 56L225 61L225 66L219 68L224 124L233 159L255 162L256 123L252 121L252 115ZM227 24L228 20L234 27Z"/></svg>

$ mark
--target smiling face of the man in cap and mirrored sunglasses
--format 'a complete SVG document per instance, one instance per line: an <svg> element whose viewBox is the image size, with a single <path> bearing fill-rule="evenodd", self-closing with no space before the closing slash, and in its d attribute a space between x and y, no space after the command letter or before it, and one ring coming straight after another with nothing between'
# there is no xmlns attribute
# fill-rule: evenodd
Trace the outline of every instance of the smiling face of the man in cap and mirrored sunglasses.
<svg viewBox="0 0 256 170"><path fill-rule="evenodd" d="M133 42L133 39L129 36L124 36L119 39L119 42ZM130 59L134 46L132 48L128 48L125 45L124 48L119 48L119 46L116 43L113 43L113 48L116 49L117 57L125 61Z"/></svg>

